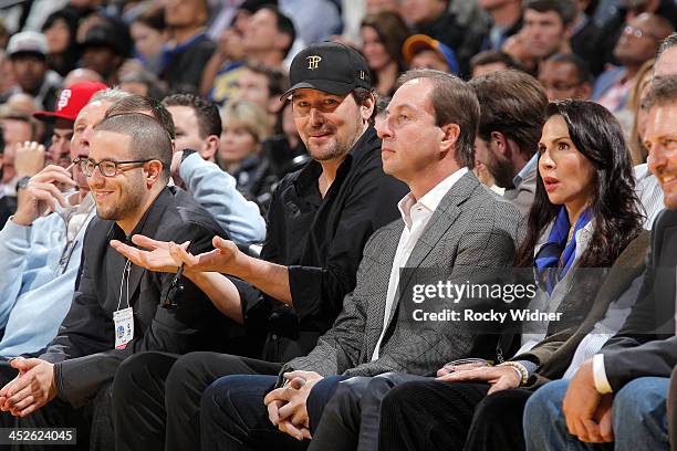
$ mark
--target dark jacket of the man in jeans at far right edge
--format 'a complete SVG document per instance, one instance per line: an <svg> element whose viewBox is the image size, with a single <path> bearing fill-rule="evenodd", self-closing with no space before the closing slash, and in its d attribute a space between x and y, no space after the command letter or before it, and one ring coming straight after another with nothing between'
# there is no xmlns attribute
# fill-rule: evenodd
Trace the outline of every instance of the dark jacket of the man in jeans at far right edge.
<svg viewBox="0 0 677 451"><path fill-rule="evenodd" d="M606 378L614 391L638 377L669 377L677 365L676 269L677 210L663 210L654 222L638 301L621 332L602 348Z"/></svg>

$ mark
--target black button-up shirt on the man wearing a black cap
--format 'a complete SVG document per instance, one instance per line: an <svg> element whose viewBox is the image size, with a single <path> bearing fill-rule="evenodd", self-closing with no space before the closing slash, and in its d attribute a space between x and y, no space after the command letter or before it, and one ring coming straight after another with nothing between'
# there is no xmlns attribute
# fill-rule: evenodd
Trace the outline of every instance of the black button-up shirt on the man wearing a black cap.
<svg viewBox="0 0 677 451"><path fill-rule="evenodd" d="M246 326L273 338L265 350L271 360L308 354L331 327L343 297L355 287L367 239L399 217L397 202L408 192L383 172L381 139L373 127L355 143L324 198L317 186L321 174L322 166L313 160L284 177L268 214L261 258L289 268L293 307L237 283Z"/></svg>

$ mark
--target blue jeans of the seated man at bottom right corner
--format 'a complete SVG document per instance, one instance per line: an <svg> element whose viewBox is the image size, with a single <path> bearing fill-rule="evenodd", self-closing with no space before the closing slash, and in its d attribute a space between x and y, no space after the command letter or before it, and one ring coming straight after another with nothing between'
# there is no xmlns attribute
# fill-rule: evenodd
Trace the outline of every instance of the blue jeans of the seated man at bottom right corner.
<svg viewBox="0 0 677 451"><path fill-rule="evenodd" d="M603 450L658 451L668 449L666 398L669 379L642 377L615 396L612 407L614 444L592 444L570 434L562 412L569 380L555 380L538 389L524 409L528 451Z"/></svg>

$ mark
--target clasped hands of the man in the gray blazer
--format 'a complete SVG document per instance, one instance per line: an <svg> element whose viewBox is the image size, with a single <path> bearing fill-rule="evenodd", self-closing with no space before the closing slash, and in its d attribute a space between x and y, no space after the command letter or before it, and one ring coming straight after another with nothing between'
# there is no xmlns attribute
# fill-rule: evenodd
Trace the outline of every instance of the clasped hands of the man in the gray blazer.
<svg viewBox="0 0 677 451"><path fill-rule="evenodd" d="M323 377L314 371L290 371L284 378L284 387L272 390L263 399L268 418L281 432L296 440L310 440L306 401L313 386Z"/></svg>

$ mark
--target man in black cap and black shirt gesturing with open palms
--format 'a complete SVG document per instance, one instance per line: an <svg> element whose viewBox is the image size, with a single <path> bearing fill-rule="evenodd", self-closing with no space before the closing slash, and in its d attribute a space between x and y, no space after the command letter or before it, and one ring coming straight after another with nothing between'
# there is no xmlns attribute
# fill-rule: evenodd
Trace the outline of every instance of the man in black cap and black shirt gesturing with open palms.
<svg viewBox="0 0 677 451"><path fill-rule="evenodd" d="M252 338L267 336L263 360L209 353L146 353L129 360L114 385L118 450L147 451L163 442L166 449L199 449L205 388L223 375L277 375L279 363L313 349L355 287L368 237L398 214L407 189L383 172L366 61L342 44L314 44L294 57L290 77L283 98L291 101L313 160L275 189L261 260L215 239L219 251L198 256L212 264L189 261L184 272ZM160 270L139 250L117 249L135 264ZM179 264L167 259L163 268ZM204 285L215 274L216 282Z"/></svg>

